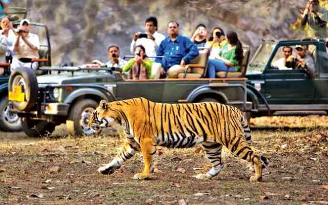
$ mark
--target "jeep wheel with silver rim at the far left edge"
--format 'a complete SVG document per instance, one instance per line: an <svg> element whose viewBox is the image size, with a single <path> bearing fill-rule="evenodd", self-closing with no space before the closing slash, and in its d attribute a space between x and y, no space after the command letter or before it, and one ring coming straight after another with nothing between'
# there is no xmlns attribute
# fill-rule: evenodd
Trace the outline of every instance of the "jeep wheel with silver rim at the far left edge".
<svg viewBox="0 0 328 205"><path fill-rule="evenodd" d="M3 97L0 101L0 129L6 132L17 132L22 130L20 118L16 113L10 112L8 97Z"/></svg>

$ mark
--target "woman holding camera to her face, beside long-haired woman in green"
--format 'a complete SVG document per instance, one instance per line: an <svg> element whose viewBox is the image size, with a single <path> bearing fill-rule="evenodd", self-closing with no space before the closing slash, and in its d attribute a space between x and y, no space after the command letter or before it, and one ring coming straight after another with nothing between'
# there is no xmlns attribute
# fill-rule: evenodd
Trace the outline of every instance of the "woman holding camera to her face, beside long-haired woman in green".
<svg viewBox="0 0 328 205"><path fill-rule="evenodd" d="M205 44L205 48L211 51L209 59L215 59L215 55L217 55L220 49L228 44L226 40L226 36L224 35L223 29L219 26L215 26L211 30L211 37L209 41Z"/></svg>

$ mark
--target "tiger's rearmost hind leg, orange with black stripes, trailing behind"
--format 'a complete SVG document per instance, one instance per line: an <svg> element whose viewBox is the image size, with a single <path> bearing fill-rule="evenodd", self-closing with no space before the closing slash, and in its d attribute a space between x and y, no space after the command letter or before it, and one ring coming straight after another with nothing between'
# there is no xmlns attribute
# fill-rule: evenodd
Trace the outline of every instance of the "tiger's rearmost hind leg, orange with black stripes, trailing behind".
<svg viewBox="0 0 328 205"><path fill-rule="evenodd" d="M264 156L252 151L243 135L237 136L233 142L229 144L228 149L230 149L235 156L252 163L255 175L251 176L250 181L262 180L262 168L268 165L268 160Z"/></svg>

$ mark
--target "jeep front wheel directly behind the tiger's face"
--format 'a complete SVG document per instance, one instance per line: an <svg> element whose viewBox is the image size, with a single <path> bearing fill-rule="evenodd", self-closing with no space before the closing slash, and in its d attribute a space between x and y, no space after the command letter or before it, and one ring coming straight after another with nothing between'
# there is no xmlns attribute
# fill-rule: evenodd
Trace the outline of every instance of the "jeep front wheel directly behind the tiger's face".
<svg viewBox="0 0 328 205"><path fill-rule="evenodd" d="M80 100L72 107L68 120L67 129L72 135L93 135L99 134L94 132L89 126L91 113L98 107L98 103L92 99Z"/></svg>

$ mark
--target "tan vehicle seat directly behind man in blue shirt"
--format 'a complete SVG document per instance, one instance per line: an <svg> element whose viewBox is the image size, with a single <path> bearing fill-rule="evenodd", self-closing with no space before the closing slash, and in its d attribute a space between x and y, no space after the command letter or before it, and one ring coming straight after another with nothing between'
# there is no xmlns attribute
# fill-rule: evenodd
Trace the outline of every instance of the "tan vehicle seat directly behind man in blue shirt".
<svg viewBox="0 0 328 205"><path fill-rule="evenodd" d="M206 75L207 62L209 59L209 49L199 51L199 55L191 60L191 64L186 65L186 72L179 73L178 78L201 78Z"/></svg>

